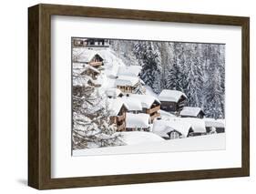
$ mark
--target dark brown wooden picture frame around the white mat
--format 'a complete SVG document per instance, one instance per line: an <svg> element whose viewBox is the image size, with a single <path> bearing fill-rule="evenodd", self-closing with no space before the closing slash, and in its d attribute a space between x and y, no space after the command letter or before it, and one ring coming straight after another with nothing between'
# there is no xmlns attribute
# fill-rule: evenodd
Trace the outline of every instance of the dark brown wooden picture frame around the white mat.
<svg viewBox="0 0 256 194"><path fill-rule="evenodd" d="M111 176L51 178L51 16L87 16L145 21L241 26L242 153L241 168L201 169ZM250 175L250 19L71 5L28 8L28 185L61 189Z"/></svg>

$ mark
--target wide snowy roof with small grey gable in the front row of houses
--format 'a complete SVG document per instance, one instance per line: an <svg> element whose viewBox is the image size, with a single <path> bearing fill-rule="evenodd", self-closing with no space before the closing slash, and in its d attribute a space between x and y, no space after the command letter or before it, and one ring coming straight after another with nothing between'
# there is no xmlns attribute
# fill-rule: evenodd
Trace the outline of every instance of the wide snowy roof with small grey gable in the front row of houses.
<svg viewBox="0 0 256 194"><path fill-rule="evenodd" d="M189 129L191 124L184 120L155 120L153 124L153 133L158 134L160 137L169 138L169 132L176 130L180 134L187 136L189 134Z"/></svg>

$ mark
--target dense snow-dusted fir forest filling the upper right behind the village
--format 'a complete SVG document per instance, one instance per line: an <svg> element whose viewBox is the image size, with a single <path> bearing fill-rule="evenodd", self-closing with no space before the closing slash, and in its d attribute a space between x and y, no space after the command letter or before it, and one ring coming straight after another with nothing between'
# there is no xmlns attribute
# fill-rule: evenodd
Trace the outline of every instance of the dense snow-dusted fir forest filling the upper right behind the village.
<svg viewBox="0 0 256 194"><path fill-rule="evenodd" d="M131 65L142 66L141 79L159 94L176 89L187 106L201 107L206 117L224 118L225 46L158 41L113 40L112 48ZM132 54L131 54L132 53Z"/></svg>

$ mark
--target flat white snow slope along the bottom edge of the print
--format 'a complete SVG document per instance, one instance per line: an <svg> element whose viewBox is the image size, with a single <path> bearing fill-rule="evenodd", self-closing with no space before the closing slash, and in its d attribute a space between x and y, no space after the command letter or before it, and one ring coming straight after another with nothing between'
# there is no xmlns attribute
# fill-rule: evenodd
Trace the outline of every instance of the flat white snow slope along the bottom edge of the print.
<svg viewBox="0 0 256 194"><path fill-rule="evenodd" d="M124 134L127 132L124 132ZM134 132L130 132L134 133ZM139 132L148 133L150 132ZM129 135L129 134L128 134ZM146 136L145 136L146 137ZM144 138L145 138L144 137ZM163 153L163 152L184 152L184 151L202 151L202 150L223 150L226 148L225 133L212 134L200 137L177 138L171 140L154 140L148 138L148 141L136 143L136 139L131 145L108 147L108 148L87 148L73 150L73 156L97 156L97 155L122 155L139 153ZM154 138L155 139L155 138ZM140 140L140 139L139 139Z"/></svg>

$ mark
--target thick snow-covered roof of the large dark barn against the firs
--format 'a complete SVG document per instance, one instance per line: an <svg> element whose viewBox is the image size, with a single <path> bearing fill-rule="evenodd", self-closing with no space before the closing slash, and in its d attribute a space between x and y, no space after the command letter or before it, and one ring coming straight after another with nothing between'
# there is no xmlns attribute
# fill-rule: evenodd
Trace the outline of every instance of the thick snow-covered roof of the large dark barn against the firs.
<svg viewBox="0 0 256 194"><path fill-rule="evenodd" d="M170 89L163 89L159 94L160 101L168 101L168 102L178 102L180 97L187 96L178 90L170 90Z"/></svg>

